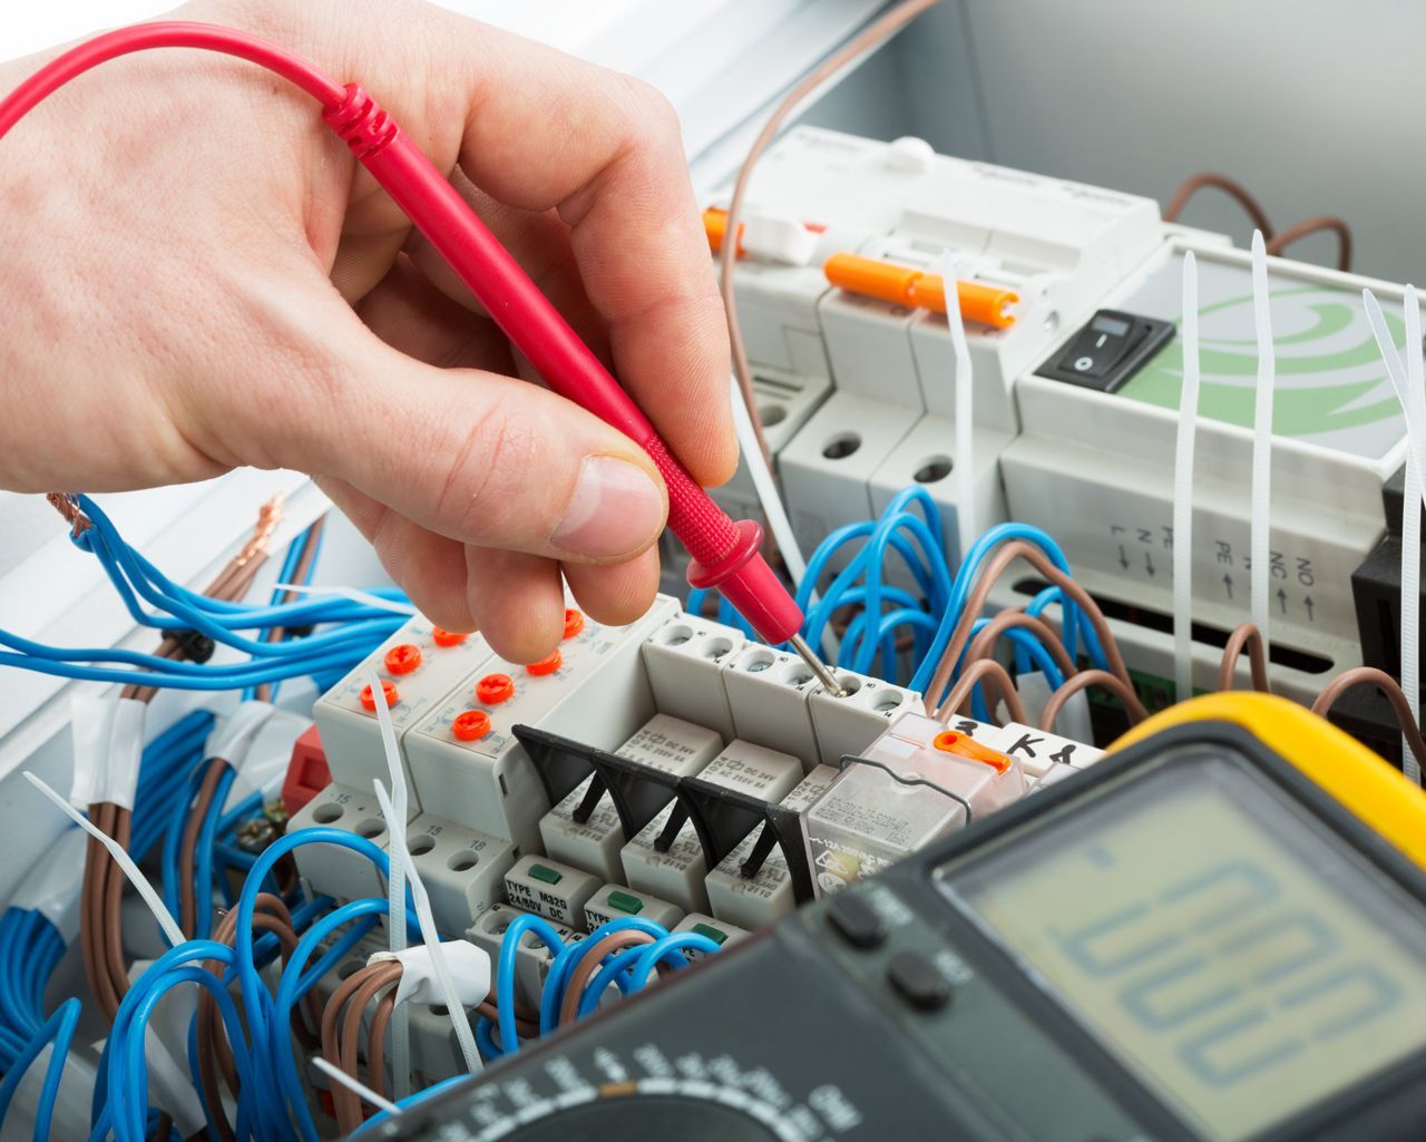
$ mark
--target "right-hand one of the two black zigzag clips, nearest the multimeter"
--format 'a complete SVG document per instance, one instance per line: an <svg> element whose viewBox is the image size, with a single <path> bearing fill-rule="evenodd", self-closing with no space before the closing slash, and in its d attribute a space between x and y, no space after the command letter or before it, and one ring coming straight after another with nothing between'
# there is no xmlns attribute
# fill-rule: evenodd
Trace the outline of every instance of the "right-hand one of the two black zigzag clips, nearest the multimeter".
<svg viewBox="0 0 1426 1142"><path fill-rule="evenodd" d="M763 867L763 861L771 855L773 847L780 847L791 877L793 898L799 904L813 900L801 814L700 777L684 777L679 781L679 803L693 821L709 868L716 868L754 828L761 825L761 833L753 841L747 860L739 867L739 874L752 880Z"/></svg>

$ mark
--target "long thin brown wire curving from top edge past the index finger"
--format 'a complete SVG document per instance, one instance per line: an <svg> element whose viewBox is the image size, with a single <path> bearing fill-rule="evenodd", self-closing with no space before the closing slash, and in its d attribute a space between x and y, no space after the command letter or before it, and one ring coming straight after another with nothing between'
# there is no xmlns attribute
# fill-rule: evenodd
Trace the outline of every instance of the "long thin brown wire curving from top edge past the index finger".
<svg viewBox="0 0 1426 1142"><path fill-rule="evenodd" d="M753 388L753 366L747 359L747 348L743 344L743 326L737 319L737 285L734 281L737 275L733 269L737 259L737 237L742 228L743 198L747 194L747 184L753 177L753 168L757 165L757 160L763 157L763 153L777 137L777 133L781 130L789 115L791 115L791 113L801 106L803 100L806 100L813 91L821 87L827 80L841 71L858 56L880 47L884 40L891 38L897 31L911 23L911 20L935 4L937 0L903 0L894 9L883 14L878 20L848 40L841 48L823 60L807 74L806 78L801 80L801 83L783 97L781 103L777 104L777 108L769 117L763 130L749 148L747 158L743 160L743 165L739 167L737 180L733 184L733 198L727 207L727 230L724 232L723 245L719 250L719 288L723 294L723 312L727 317L727 339L729 348L733 354L733 375L737 378L737 388L743 393L743 402L747 405L747 415L753 422L753 435L757 438L757 446L769 466L771 466L773 461L767 448L767 436L763 432L763 418L757 411L757 392Z"/></svg>

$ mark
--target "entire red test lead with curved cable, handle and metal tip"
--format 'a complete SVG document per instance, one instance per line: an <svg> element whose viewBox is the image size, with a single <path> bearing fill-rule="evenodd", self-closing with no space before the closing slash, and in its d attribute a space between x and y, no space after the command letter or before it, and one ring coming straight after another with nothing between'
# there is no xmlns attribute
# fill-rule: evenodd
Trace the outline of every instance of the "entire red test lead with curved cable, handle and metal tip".
<svg viewBox="0 0 1426 1142"><path fill-rule="evenodd" d="M713 503L669 452L649 418L455 187L356 84L342 87L299 57L247 33L185 21L135 24L71 48L21 83L0 103L0 137L76 76L117 56L154 47L195 47L237 56L267 67L318 100L327 125L441 251L545 384L649 453L669 489L669 526L693 557L689 583L717 587L763 639L791 643L823 686L841 696L836 677L799 634L803 613L761 556L761 528L753 520L734 523Z"/></svg>

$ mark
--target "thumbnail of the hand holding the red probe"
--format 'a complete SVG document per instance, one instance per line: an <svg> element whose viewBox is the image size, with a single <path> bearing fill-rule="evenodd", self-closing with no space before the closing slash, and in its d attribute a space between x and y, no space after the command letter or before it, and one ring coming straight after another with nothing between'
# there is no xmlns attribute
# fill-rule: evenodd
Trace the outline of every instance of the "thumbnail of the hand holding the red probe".
<svg viewBox="0 0 1426 1142"><path fill-rule="evenodd" d="M550 543L590 559L632 555L663 526L663 492L637 465L586 456Z"/></svg>

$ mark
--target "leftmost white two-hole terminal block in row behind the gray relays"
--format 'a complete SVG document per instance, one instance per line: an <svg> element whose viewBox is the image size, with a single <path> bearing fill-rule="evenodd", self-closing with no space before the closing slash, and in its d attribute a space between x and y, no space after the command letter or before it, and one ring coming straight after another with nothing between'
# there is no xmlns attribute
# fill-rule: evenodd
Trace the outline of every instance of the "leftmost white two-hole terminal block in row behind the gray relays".
<svg viewBox="0 0 1426 1142"><path fill-rule="evenodd" d="M709 726L724 741L737 737L722 667L746 646L743 632L680 612L643 644L643 662L659 713Z"/></svg>

